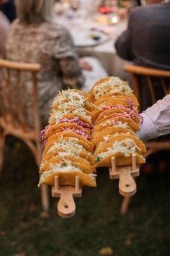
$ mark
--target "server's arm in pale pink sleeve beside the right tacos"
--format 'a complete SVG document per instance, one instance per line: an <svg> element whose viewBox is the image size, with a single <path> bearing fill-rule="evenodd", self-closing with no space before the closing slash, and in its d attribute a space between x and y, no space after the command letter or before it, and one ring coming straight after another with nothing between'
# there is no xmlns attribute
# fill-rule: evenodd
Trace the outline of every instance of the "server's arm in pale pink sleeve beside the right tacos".
<svg viewBox="0 0 170 256"><path fill-rule="evenodd" d="M143 123L140 132L136 132L140 140L150 140L170 133L170 94L141 114Z"/></svg>

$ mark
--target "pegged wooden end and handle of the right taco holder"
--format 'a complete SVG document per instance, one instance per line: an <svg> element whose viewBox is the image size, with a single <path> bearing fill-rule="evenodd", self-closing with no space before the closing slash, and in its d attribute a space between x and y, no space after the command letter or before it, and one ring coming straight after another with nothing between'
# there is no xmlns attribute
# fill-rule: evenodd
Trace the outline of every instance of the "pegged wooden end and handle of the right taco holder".
<svg viewBox="0 0 170 256"><path fill-rule="evenodd" d="M136 155L132 155L131 166L116 166L115 156L112 157L112 167L109 167L110 179L119 179L119 192L123 196L132 196L136 192L136 183L133 177L139 176L139 168L136 165Z"/></svg>

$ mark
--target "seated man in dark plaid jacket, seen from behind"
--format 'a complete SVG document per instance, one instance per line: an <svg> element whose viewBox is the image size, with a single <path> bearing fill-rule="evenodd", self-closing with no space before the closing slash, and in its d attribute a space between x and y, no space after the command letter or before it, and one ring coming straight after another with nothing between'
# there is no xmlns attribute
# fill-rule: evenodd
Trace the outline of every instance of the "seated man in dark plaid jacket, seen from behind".
<svg viewBox="0 0 170 256"><path fill-rule="evenodd" d="M170 1L148 0L146 6L131 10L128 28L117 38L117 54L134 64L170 70ZM151 106L145 80L141 79L142 109ZM156 81L157 99L163 97Z"/></svg>

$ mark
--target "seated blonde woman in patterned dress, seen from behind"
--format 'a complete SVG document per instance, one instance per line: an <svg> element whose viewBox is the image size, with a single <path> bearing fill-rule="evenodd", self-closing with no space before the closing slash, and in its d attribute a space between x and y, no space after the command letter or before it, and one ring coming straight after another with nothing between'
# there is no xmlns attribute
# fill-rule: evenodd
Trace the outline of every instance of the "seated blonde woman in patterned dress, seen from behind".
<svg viewBox="0 0 170 256"><path fill-rule="evenodd" d="M68 30L52 21L53 0L15 0L17 19L6 41L6 59L39 63L40 114L42 123L55 95L66 88L82 88L82 69L92 72L88 61L79 61ZM28 85L29 87L29 85Z"/></svg>

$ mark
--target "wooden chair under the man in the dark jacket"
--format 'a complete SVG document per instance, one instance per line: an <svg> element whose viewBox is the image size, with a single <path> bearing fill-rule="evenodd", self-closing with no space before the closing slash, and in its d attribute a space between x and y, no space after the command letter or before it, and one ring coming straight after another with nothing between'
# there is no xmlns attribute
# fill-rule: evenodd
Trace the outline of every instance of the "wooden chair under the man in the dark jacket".
<svg viewBox="0 0 170 256"><path fill-rule="evenodd" d="M168 84L167 80L170 80L170 71L166 70L160 70L160 69L151 69L148 67L140 67L134 64L125 64L124 66L125 72L129 72L132 78L133 82L133 90L135 93L135 96L138 98L138 102L140 105L142 104L142 99L141 99L141 90L142 90L142 85L140 83L140 77L145 77L145 81L147 82L148 86L148 93L151 95L151 105L153 103L156 103L158 98L156 98L156 86L154 84L154 79L156 78L160 82L160 86L162 88L163 92L163 97L169 93L169 88L170 88L170 82ZM140 111L140 109L139 109ZM151 155L151 153L155 153L158 150L170 150L170 141L161 141L161 140L151 140L145 142L147 152L145 157L148 155ZM122 207L121 207L121 213L126 213L128 209L128 205L130 202L130 197L125 197L123 202L122 202Z"/></svg>

